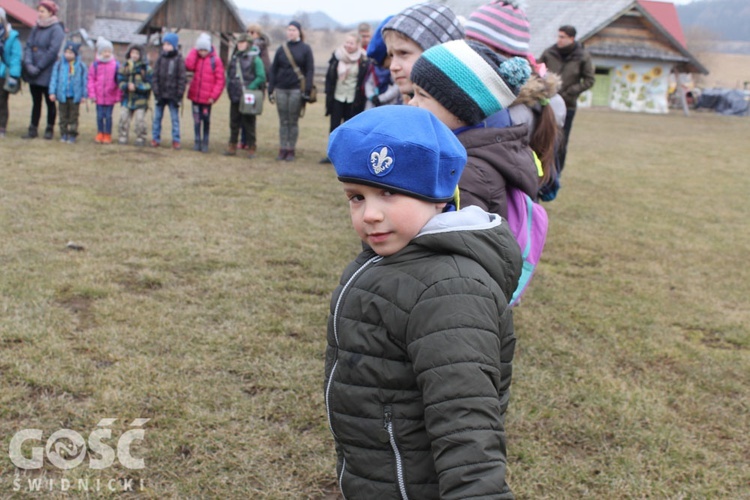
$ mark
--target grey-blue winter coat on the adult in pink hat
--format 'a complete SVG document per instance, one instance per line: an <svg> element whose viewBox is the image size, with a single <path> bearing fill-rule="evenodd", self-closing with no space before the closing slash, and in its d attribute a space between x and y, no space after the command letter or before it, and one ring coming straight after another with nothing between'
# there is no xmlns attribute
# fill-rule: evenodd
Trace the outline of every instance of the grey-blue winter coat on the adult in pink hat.
<svg viewBox="0 0 750 500"><path fill-rule="evenodd" d="M64 42L65 30L60 22L46 28L39 25L31 28L23 51L24 80L30 85L49 87L52 66L55 65Z"/></svg>

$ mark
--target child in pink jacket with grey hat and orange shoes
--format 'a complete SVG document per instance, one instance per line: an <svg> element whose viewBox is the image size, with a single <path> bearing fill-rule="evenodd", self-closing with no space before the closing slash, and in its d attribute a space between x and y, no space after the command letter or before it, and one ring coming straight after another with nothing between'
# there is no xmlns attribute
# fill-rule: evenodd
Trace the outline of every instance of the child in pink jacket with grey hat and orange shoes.
<svg viewBox="0 0 750 500"><path fill-rule="evenodd" d="M112 143L112 110L120 102L117 70L112 43L103 37L96 41L96 59L89 68L89 99L96 103L96 139L98 144Z"/></svg>

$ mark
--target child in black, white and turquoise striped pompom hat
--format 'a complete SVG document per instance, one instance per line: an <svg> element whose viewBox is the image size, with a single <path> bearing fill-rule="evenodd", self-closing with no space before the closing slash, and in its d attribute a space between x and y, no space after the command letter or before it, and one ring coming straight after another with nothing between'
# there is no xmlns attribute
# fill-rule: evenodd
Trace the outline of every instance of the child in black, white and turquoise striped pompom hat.
<svg viewBox="0 0 750 500"><path fill-rule="evenodd" d="M459 183L463 206L508 217L507 186L536 200L540 174L527 126L492 128L483 122L515 101L530 74L525 59L503 62L489 47L463 40L432 47L414 63L409 104L434 113L466 148Z"/></svg>

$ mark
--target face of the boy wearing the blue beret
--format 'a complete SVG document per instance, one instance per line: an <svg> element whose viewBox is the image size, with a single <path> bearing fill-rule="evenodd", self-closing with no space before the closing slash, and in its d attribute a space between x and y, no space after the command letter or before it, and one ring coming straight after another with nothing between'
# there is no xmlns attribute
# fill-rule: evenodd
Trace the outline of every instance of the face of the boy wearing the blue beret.
<svg viewBox="0 0 750 500"><path fill-rule="evenodd" d="M403 249L446 205L348 182L344 183L344 193L354 230L383 257Z"/></svg>

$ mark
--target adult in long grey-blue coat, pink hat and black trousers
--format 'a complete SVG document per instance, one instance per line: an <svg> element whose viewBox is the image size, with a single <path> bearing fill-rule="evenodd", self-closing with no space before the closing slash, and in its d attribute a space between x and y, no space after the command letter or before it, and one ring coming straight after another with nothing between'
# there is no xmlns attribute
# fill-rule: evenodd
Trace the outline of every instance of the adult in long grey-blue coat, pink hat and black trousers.
<svg viewBox="0 0 750 500"><path fill-rule="evenodd" d="M42 0L37 6L37 22L31 29L23 52L23 76L29 83L31 99L31 123L24 139L38 135L39 120L42 116L42 97L47 103L47 128L44 138L52 139L57 108L49 98L49 82L52 66L57 61L60 47L65 42L65 29L57 18L57 4L52 0Z"/></svg>

